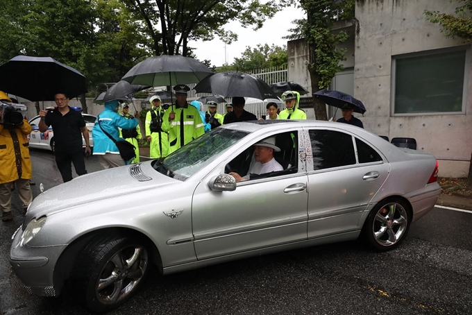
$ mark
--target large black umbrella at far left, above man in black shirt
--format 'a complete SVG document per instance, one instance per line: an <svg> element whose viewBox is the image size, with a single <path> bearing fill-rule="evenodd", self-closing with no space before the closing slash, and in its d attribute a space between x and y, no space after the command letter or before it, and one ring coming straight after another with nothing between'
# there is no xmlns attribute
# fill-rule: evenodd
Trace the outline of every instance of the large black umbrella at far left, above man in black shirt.
<svg viewBox="0 0 472 315"><path fill-rule="evenodd" d="M51 57L16 56L0 66L0 90L30 101L54 101L54 94L69 99L85 94L85 76Z"/></svg>

